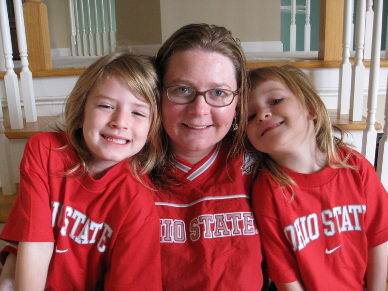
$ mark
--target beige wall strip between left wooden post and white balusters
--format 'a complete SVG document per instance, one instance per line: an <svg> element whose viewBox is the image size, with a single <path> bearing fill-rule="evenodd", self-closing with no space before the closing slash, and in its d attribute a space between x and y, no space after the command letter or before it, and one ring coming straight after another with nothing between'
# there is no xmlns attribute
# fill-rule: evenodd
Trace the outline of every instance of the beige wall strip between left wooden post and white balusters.
<svg viewBox="0 0 388 291"><path fill-rule="evenodd" d="M42 0L47 6L51 49L70 48L68 1Z"/></svg>

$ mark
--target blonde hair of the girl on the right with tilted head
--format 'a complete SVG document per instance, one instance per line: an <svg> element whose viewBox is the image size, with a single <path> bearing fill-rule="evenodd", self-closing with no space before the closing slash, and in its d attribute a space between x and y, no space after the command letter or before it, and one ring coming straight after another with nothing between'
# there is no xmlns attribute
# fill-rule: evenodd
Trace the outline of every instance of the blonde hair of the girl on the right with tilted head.
<svg viewBox="0 0 388 291"><path fill-rule="evenodd" d="M347 163L351 148L343 141L344 131L331 124L323 100L319 96L314 83L303 71L292 65L267 66L251 70L249 80L250 91L265 81L278 81L287 86L298 98L304 110L315 116L315 138L319 149L326 154L327 165L331 168L353 168ZM339 154L340 147L348 150L348 154L344 157ZM265 169L279 186L288 187L293 197L292 185L296 186L296 183L291 177L268 154L258 152L258 156L258 166Z"/></svg>

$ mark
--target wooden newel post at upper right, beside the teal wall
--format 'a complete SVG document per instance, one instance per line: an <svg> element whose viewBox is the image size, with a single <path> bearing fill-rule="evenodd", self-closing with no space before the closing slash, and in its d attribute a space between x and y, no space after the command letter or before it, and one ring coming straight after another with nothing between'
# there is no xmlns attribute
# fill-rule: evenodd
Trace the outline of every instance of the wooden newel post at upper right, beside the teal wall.
<svg viewBox="0 0 388 291"><path fill-rule="evenodd" d="M323 61L342 60L342 0L321 0L319 12L318 59Z"/></svg>

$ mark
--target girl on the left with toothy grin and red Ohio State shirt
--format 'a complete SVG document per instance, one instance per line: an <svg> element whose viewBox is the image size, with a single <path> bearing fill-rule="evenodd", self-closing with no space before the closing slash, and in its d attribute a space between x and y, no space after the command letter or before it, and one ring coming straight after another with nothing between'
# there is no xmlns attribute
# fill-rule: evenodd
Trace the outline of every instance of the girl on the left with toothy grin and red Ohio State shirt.
<svg viewBox="0 0 388 291"><path fill-rule="evenodd" d="M18 243L16 290L162 289L159 218L139 177L162 156L159 101L151 60L114 52L80 76L66 131L27 142L1 232Z"/></svg>

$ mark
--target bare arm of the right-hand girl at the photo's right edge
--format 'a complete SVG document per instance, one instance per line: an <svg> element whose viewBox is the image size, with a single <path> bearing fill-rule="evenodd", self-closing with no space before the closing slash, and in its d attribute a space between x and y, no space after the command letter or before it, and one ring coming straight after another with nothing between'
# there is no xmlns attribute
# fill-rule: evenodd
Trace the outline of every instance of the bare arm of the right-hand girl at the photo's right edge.
<svg viewBox="0 0 388 291"><path fill-rule="evenodd" d="M368 250L367 290L381 291L386 288L387 242Z"/></svg>

